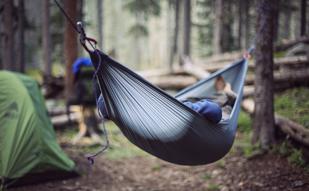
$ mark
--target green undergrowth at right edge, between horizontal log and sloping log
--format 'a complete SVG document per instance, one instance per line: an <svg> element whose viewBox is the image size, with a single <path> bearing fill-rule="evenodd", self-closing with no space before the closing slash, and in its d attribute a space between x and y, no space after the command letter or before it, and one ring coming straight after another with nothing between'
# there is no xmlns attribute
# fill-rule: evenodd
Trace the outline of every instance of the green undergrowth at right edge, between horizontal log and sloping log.
<svg viewBox="0 0 309 191"><path fill-rule="evenodd" d="M297 87L274 96L274 110L279 115L308 127L309 125L309 88Z"/></svg>

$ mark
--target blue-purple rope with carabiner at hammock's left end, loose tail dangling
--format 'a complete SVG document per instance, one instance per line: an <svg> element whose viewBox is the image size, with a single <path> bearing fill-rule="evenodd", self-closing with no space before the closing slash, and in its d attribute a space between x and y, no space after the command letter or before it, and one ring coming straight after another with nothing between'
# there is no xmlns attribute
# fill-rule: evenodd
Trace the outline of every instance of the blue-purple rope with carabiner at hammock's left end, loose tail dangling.
<svg viewBox="0 0 309 191"><path fill-rule="evenodd" d="M96 47L94 47L92 45L92 42L94 42L94 44L96 45L97 44L97 41L92 39L92 38L88 38L86 36L86 33L84 32L84 29L83 29L83 26L80 25L79 28L81 29L81 31L78 30L78 28L75 26L75 24L73 23L73 21L70 19L70 17L66 14L66 12L63 10L63 8L59 5L59 3L54 0L54 2L58 5L58 7L60 8L60 10L63 12L63 14L66 16L66 18L70 21L70 23L72 24L72 26L75 28L75 30L79 33L79 35L83 38L83 39L79 39L81 44L83 45L83 47L86 49L87 52L90 52L89 49L87 48L87 46L85 45L85 40L87 40L89 42L89 44L91 45L91 47L94 49L95 53L97 53L98 57L99 57L99 66L98 68L95 70L95 74L93 75L93 78L92 78L92 83L93 83L93 88L95 90L95 101L96 101L96 106L97 106L97 109L98 109L98 113L99 113L99 116L101 118L101 121L102 121L102 124L103 124L103 129L104 129L104 136L106 138L106 145L104 146L103 149L101 149L101 151L95 153L94 155L90 155L87 157L89 163L93 164L94 161L92 159L92 157L96 156L96 155L99 155L102 151L104 151L107 147L108 147L108 144L109 144L109 141L108 141L108 137L107 137L107 133L106 133L106 129L105 129L105 123L104 123L104 119L103 117L101 116L100 112L99 112L99 103L98 103L98 97L97 97L97 94L96 94L96 88L95 88L95 77L99 71L99 68L101 66L101 62L102 62L102 59L101 59L101 56L98 52L98 49Z"/></svg>

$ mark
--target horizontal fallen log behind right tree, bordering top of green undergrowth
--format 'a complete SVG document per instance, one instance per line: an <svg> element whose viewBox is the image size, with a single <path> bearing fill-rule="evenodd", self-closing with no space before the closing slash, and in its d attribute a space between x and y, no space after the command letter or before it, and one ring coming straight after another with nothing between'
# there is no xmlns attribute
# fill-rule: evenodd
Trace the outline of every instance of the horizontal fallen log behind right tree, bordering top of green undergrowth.
<svg viewBox="0 0 309 191"><path fill-rule="evenodd" d="M273 77L274 77L274 83L305 82L309 80L309 69L274 71ZM246 85L254 84L254 80L255 80L254 74L247 75Z"/></svg>

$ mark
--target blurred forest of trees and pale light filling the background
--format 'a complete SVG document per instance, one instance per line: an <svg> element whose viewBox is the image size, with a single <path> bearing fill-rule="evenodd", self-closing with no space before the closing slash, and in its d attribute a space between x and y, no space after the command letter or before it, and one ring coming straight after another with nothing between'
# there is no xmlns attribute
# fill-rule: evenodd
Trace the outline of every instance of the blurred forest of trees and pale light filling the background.
<svg viewBox="0 0 309 191"><path fill-rule="evenodd" d="M308 33L306 0L274 1L274 42ZM248 49L256 33L252 0L77 0L76 14L99 49L133 70ZM0 19L0 69L65 74L65 18L53 1L1 1ZM78 57L87 56L77 46Z"/></svg>

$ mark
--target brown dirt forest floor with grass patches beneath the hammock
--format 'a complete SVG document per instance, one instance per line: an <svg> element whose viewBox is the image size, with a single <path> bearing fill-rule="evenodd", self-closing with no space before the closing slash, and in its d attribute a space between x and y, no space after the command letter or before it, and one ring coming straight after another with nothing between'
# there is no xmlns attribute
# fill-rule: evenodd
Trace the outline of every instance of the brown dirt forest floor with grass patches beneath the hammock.
<svg viewBox="0 0 309 191"><path fill-rule="evenodd" d="M75 162L81 176L8 190L309 190L309 172L294 168L279 150L245 158L242 151L245 137L239 132L223 159L208 165L181 166L140 150L112 122L107 121L106 127L110 147L94 157L93 165L87 155L98 151L100 145L89 138L73 145L70 140L76 128L57 132L57 141Z"/></svg>

